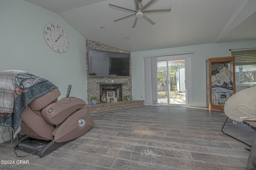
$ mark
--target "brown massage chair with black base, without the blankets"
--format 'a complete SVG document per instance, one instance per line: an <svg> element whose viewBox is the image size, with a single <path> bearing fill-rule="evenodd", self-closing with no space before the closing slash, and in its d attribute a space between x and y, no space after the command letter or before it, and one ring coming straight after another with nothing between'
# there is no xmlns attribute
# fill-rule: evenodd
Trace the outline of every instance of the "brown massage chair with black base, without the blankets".
<svg viewBox="0 0 256 170"><path fill-rule="evenodd" d="M20 131L27 137L19 140L15 148L43 157L93 127L82 99L64 97L58 101L59 96L60 91L54 89L26 106L21 113Z"/></svg>

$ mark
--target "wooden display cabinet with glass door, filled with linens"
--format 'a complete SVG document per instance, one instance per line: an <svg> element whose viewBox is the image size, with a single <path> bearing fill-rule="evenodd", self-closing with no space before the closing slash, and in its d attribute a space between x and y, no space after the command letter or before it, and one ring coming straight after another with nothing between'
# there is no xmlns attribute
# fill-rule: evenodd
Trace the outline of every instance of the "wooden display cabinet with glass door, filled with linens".
<svg viewBox="0 0 256 170"><path fill-rule="evenodd" d="M206 60L206 106L224 109L225 102L236 93L235 57Z"/></svg>

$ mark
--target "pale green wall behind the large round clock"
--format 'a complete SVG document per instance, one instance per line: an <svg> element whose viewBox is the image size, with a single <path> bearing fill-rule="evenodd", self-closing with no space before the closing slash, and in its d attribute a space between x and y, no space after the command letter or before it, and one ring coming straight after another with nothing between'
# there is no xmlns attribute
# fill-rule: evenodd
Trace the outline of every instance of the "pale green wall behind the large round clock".
<svg viewBox="0 0 256 170"><path fill-rule="evenodd" d="M65 53L53 51L45 42L48 23L59 24L68 35ZM85 40L54 12L24 0L0 1L0 71L20 69L48 79L59 87L60 98L70 84L70 96L87 103Z"/></svg>

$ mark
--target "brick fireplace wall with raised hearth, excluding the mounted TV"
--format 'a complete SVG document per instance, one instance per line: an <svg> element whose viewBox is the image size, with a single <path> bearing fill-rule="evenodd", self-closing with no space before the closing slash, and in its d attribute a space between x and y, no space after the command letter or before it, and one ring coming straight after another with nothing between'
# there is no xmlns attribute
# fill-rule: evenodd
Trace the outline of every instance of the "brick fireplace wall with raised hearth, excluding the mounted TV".
<svg viewBox="0 0 256 170"><path fill-rule="evenodd" d="M122 49L114 48L109 45L86 40L86 73L87 73L87 101L88 109L91 113L123 109L128 107L138 107L144 105L144 100L122 101L126 95L132 96L132 63L130 62L130 76L89 76L88 74L88 49L98 49L102 51L114 51L120 53L130 53ZM102 88L104 89L102 91ZM102 103L91 105L91 97L100 97L106 91L115 91L118 102ZM98 100L99 101L99 100Z"/></svg>

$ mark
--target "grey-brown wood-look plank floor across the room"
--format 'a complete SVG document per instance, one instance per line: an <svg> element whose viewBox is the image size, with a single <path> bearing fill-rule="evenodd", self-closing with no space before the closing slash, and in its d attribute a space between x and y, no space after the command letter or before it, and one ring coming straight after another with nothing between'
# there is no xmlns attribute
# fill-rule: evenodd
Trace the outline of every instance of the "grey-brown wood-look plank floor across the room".
<svg viewBox="0 0 256 170"><path fill-rule="evenodd" d="M243 170L247 146L222 134L223 111L142 106L91 113L94 127L47 156L17 157L0 144L0 169L50 170ZM252 144L256 131L228 120L225 132ZM28 153L16 150L19 156Z"/></svg>

